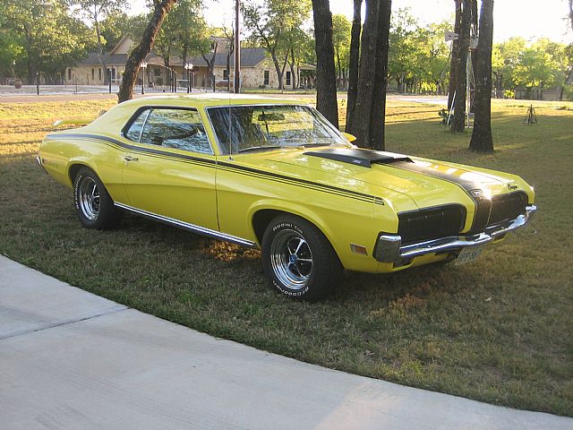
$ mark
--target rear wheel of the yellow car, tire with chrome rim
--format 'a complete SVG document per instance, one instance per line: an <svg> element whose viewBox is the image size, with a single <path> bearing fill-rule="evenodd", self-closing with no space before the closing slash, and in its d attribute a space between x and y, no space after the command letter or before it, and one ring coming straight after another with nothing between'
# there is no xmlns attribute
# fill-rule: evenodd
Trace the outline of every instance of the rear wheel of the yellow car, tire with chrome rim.
<svg viewBox="0 0 573 430"><path fill-rule="evenodd" d="M73 179L73 201L85 228L108 230L117 227L124 212L114 206L98 176L90 168L80 168Z"/></svg>

